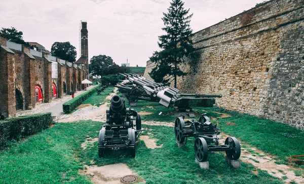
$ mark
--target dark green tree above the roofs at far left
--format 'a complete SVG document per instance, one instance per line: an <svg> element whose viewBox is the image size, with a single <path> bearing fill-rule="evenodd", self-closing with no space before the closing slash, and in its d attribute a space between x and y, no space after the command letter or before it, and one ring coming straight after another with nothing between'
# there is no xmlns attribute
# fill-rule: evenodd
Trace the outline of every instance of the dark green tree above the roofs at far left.
<svg viewBox="0 0 304 184"><path fill-rule="evenodd" d="M22 31L18 31L16 28L11 27L11 28L2 28L0 30L0 33L2 36L6 37L8 41L12 41L15 43L19 43L19 44L25 44L25 45L29 45L30 44L28 42L25 42L23 40L23 32Z"/></svg>

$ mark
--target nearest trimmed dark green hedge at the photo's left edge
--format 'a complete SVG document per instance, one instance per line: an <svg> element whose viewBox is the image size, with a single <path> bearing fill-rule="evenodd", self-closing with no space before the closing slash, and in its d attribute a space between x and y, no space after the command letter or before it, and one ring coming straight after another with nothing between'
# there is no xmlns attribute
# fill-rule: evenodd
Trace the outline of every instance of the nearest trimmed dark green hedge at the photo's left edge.
<svg viewBox="0 0 304 184"><path fill-rule="evenodd" d="M48 128L53 122L51 113L7 118L0 121L0 147L7 141L19 140Z"/></svg>

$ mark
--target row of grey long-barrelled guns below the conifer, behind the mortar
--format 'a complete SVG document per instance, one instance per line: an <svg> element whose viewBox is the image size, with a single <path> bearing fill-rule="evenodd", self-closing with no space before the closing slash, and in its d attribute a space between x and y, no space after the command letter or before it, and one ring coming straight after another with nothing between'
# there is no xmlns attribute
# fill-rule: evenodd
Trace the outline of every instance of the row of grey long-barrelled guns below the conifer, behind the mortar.
<svg viewBox="0 0 304 184"><path fill-rule="evenodd" d="M124 94L130 103L138 100L158 102L165 107L177 107L178 110L192 109L192 107L212 107L215 98L221 95L209 94L179 94L174 87L167 87L163 83L154 82L135 73L120 73L130 81L128 84L116 85L119 92Z"/></svg>

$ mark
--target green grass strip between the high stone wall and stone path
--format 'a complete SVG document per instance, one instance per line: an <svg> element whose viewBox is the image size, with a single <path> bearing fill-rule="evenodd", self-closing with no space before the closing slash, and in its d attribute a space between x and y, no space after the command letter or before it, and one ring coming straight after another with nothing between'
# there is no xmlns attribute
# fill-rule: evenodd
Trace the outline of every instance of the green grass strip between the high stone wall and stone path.
<svg viewBox="0 0 304 184"><path fill-rule="evenodd" d="M211 108L211 111L220 111ZM282 161L287 161L290 155L301 155L304 150L304 131L289 126L285 123L274 122L257 118L248 114L226 112L232 117L219 119L224 133L237 137L243 143L257 147L258 149L278 156ZM228 126L226 122L237 125Z"/></svg>

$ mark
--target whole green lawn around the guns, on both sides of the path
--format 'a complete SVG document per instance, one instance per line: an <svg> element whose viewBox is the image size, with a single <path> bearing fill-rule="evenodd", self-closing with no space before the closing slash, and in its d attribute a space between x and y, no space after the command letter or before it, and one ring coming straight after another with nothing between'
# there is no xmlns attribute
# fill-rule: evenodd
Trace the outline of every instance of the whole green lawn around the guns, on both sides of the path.
<svg viewBox="0 0 304 184"><path fill-rule="evenodd" d="M104 90L101 96L93 94L83 104L96 105L105 102L113 88ZM121 96L121 94L120 94ZM127 108L129 104L126 102ZM158 115L167 109L154 102L137 102L137 111L152 112L143 115L142 121L174 122L175 117ZM283 123L259 119L255 116L227 112L219 108L197 108L207 111L208 116L218 117L220 113L232 117L218 119L222 131L243 143L278 156L278 162L286 162L290 155L302 154L304 150L303 131ZM234 122L237 125L225 125ZM180 149L175 145L173 127L142 125L143 135L156 139L161 148L148 149L143 141L136 148L136 158L127 155L110 154L99 158L97 142L83 149L86 139L98 137L103 122L78 121L56 123L52 128L27 137L24 141L12 143L0 152L0 183L91 183L88 176L79 173L85 165L107 165L125 163L146 183L283 183L281 179L242 163L238 169L225 162L224 153L209 153L209 170L195 163L193 142ZM282 146L283 145L283 146ZM257 172L253 172L257 171ZM119 171L118 171L119 172ZM301 173L298 173L301 174Z"/></svg>

